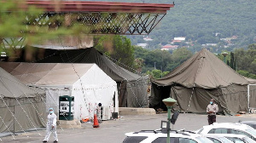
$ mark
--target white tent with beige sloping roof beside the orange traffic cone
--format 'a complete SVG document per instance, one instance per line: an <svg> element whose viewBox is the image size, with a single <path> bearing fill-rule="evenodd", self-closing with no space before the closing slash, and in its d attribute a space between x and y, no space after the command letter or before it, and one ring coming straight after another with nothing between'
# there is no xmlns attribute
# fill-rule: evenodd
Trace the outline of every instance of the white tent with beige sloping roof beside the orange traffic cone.
<svg viewBox="0 0 256 143"><path fill-rule="evenodd" d="M0 66L22 83L45 89L46 106L55 112L62 95L74 96L76 119L93 117L98 103L118 112L117 83L96 64L0 62Z"/></svg>

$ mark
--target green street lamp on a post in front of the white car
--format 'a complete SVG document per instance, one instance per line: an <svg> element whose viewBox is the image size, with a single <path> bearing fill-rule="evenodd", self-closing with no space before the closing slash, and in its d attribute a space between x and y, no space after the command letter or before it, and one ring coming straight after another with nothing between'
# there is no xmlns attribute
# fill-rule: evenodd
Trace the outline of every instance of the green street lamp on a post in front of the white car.
<svg viewBox="0 0 256 143"><path fill-rule="evenodd" d="M170 143L170 122L171 122L171 107L177 102L177 100L172 99L171 97L163 100L168 109L168 122L167 122L167 143Z"/></svg>

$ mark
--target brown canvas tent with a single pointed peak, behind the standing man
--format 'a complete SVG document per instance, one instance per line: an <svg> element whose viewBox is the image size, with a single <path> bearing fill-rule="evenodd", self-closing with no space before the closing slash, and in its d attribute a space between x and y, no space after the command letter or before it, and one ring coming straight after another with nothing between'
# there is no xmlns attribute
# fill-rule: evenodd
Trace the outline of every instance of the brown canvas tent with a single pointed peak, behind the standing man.
<svg viewBox="0 0 256 143"><path fill-rule="evenodd" d="M213 98L221 112L247 111L249 83L216 55L202 49L166 77L153 81L150 105L162 107L161 100L171 96L183 112L206 112L209 100Z"/></svg>

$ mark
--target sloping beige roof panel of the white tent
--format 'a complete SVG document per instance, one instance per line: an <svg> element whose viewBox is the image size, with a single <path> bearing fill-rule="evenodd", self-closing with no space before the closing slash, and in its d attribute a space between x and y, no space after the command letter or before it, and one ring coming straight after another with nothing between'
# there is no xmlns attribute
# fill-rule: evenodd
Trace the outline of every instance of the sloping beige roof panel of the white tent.
<svg viewBox="0 0 256 143"><path fill-rule="evenodd" d="M32 85L72 85L82 77L93 64L38 64L1 62L0 65L22 83Z"/></svg>

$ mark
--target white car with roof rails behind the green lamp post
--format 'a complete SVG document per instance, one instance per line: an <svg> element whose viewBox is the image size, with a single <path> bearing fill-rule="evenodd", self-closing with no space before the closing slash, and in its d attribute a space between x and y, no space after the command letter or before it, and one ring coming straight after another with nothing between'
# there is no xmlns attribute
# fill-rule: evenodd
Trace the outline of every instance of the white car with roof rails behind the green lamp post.
<svg viewBox="0 0 256 143"><path fill-rule="evenodd" d="M142 130L125 134L127 137L123 143L166 143L167 134L161 130ZM202 134L189 134L185 132L171 132L172 143L213 143Z"/></svg>

